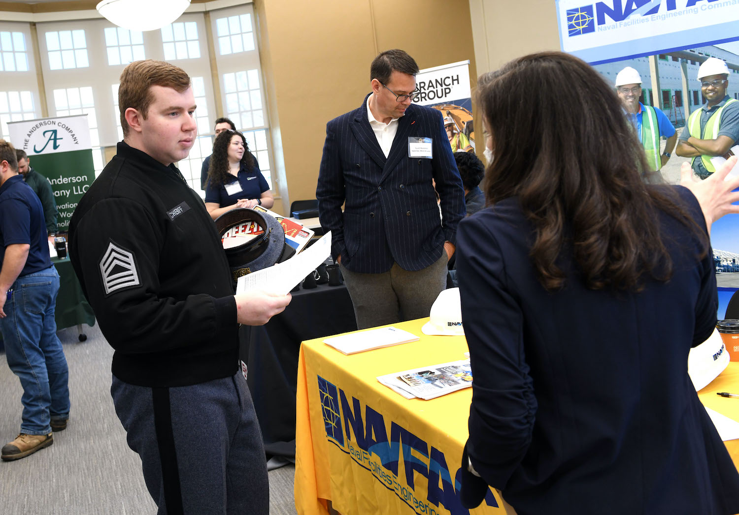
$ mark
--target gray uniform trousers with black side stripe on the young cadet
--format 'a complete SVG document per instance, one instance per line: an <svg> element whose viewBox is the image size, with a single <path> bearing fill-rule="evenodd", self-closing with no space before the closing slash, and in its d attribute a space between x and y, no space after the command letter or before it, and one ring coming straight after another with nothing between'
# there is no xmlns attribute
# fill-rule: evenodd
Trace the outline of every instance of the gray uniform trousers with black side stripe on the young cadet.
<svg viewBox="0 0 739 515"><path fill-rule="evenodd" d="M113 376L110 391L158 515L268 514L262 433L241 373L168 388Z"/></svg>

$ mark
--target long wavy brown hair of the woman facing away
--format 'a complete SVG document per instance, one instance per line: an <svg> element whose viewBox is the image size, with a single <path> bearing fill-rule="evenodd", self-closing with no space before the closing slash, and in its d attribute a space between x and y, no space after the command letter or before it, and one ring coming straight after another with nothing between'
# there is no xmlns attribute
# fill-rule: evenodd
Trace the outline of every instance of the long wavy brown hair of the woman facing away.
<svg viewBox="0 0 739 515"><path fill-rule="evenodd" d="M477 100L495 156L488 204L518 197L534 225L530 255L545 288L565 284L557 264L565 245L589 288L638 291L645 276L668 280L658 211L691 229L705 255L706 234L677 193L645 184L644 149L616 92L588 63L539 52L486 79Z"/></svg>

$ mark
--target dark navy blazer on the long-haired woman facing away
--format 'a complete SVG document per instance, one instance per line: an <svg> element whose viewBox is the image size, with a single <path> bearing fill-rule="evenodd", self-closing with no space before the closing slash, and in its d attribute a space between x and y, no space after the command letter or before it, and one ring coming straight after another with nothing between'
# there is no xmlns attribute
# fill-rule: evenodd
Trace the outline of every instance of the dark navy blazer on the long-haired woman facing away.
<svg viewBox="0 0 739 515"><path fill-rule="evenodd" d="M705 228L695 197L678 191ZM695 237L658 218L674 273L638 293L588 289L569 251L565 288L545 291L516 198L461 222L474 376L466 505L492 485L519 515L739 512L739 474L687 373L688 351L716 322L712 253L698 260Z"/></svg>

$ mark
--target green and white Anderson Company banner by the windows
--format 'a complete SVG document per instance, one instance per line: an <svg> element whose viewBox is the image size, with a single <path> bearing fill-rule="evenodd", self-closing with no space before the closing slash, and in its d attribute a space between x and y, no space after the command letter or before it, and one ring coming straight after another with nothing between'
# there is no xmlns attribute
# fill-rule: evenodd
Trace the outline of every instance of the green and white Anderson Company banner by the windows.
<svg viewBox="0 0 739 515"><path fill-rule="evenodd" d="M86 114L9 122L10 142L24 150L30 165L51 183L58 210L59 232L95 180L92 144Z"/></svg>

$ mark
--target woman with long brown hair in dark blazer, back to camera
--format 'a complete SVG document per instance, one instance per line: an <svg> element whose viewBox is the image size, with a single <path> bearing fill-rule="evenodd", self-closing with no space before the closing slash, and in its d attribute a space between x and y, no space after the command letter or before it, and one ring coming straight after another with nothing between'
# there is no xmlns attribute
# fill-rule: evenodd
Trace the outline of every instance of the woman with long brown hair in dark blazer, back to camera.
<svg viewBox="0 0 739 515"><path fill-rule="evenodd" d="M701 206L644 181L587 63L542 52L487 79L489 207L457 233L474 376L464 502L491 485L518 515L739 512L739 474L687 373L718 308Z"/></svg>

